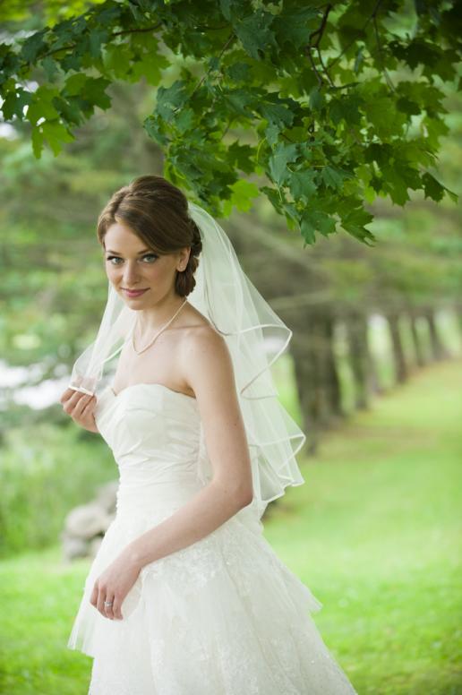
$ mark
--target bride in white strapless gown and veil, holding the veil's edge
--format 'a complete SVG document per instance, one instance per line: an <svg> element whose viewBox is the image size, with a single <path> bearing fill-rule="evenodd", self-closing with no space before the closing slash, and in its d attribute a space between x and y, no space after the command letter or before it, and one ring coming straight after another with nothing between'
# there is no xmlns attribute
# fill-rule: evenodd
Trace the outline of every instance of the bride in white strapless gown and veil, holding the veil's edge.
<svg viewBox="0 0 462 695"><path fill-rule="evenodd" d="M268 502L304 483L269 369L291 331L161 176L114 193L98 241L107 306L61 397L119 472L67 645L93 658L89 695L355 693L321 602L261 533Z"/></svg>

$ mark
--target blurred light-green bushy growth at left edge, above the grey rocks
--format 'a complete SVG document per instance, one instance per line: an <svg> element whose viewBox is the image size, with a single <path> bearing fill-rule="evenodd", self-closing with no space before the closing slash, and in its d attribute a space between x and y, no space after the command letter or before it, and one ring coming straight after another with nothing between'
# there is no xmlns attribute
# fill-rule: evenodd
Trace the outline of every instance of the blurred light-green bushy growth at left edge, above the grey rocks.
<svg viewBox="0 0 462 695"><path fill-rule="evenodd" d="M105 442L73 424L10 430L0 450L0 557L56 543L67 513L116 479Z"/></svg>

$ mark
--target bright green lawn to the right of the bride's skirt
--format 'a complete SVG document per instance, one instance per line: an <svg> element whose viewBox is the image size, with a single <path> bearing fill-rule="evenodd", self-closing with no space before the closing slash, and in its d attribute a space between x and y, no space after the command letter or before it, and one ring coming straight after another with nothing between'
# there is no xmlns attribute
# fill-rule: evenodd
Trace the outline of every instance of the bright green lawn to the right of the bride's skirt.
<svg viewBox="0 0 462 695"><path fill-rule="evenodd" d="M302 465L265 536L323 603L360 693L462 693L462 365L374 401Z"/></svg>

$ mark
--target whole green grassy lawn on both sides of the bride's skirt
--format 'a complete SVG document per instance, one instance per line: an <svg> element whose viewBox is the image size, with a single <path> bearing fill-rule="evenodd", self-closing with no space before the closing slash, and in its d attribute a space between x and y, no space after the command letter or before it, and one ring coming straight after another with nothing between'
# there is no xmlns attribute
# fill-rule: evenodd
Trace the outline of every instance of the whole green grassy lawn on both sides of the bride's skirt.
<svg viewBox="0 0 462 695"><path fill-rule="evenodd" d="M361 694L462 693L461 423L461 362L426 368L301 460L266 521ZM88 567L58 545L0 564L1 693L87 692L91 659L65 644Z"/></svg>

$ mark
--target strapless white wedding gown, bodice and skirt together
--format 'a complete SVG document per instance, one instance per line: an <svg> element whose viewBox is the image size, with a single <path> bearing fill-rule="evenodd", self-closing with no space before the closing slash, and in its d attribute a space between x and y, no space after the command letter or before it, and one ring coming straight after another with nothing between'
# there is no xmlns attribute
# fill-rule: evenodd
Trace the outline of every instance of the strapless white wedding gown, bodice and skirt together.
<svg viewBox="0 0 462 695"><path fill-rule="evenodd" d="M68 648L93 657L89 695L355 693L312 620L321 602L244 508L210 535L145 565L109 620L90 604L124 546L206 485L196 399L162 384L107 387L95 419L119 468L116 517L83 587Z"/></svg>

